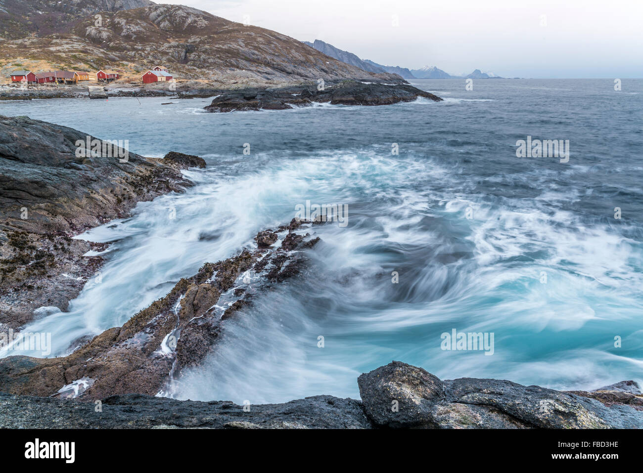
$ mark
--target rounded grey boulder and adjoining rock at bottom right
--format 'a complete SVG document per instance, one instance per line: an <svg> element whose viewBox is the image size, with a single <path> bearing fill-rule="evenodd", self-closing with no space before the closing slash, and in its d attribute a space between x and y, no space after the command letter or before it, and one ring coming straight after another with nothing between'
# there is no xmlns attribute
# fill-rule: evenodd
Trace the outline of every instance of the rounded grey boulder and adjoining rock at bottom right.
<svg viewBox="0 0 643 473"><path fill-rule="evenodd" d="M361 375L358 385L380 427L643 428L643 413L630 406L507 380L440 381L399 361Z"/></svg>

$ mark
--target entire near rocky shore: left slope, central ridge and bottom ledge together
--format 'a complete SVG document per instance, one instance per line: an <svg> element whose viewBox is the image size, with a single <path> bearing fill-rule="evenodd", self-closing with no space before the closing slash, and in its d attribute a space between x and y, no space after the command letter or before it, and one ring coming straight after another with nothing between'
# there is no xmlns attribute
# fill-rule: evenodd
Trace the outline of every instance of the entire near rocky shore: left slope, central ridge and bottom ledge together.
<svg viewBox="0 0 643 473"><path fill-rule="evenodd" d="M163 159L129 153L123 162L78 156L77 141L87 139L68 127L0 116L0 332L30 321L35 308L64 309L95 274L102 259L84 254L102 246L72 236L129 215L139 201L181 192L192 185L181 170L205 166L176 152ZM250 248L204 263L123 326L77 341L69 355L0 359L0 427L643 428L643 394L633 381L556 391L440 380L397 361L359 376L361 400L320 395L239 406L170 398L183 370L217 356L226 320L305 271L321 223L293 219L260 231Z"/></svg>

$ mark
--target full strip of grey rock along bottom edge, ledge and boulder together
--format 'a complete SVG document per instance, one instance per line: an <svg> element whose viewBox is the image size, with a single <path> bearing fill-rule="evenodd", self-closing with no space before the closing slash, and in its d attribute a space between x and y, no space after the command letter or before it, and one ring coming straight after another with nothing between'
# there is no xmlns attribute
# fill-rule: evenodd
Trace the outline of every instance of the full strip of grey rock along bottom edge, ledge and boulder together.
<svg viewBox="0 0 643 473"><path fill-rule="evenodd" d="M0 428L38 429L640 429L643 395L626 381L555 391L511 381L440 380L391 362L361 375L362 400L314 396L239 406L139 394L95 402L0 393ZM0 390L2 389L0 384ZM246 407L244 409L244 407Z"/></svg>

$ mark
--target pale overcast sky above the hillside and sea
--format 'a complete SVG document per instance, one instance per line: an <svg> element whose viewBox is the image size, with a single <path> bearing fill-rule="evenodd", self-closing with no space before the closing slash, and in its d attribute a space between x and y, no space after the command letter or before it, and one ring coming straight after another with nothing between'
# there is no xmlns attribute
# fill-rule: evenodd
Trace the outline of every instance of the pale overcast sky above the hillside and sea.
<svg viewBox="0 0 643 473"><path fill-rule="evenodd" d="M451 74L482 69L505 77L643 77L643 0L176 3L232 21L248 15L255 26L321 39L391 66L437 66Z"/></svg>

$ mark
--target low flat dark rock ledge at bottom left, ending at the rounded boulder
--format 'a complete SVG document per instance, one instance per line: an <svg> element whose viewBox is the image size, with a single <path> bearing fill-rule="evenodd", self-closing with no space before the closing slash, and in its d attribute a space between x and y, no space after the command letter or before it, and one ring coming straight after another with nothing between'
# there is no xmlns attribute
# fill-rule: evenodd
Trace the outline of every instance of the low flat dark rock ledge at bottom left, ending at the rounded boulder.
<svg viewBox="0 0 643 473"><path fill-rule="evenodd" d="M314 396L284 404L252 404L249 411L230 401L179 401L119 395L93 403L0 393L0 428L33 429L368 429L361 402Z"/></svg>

